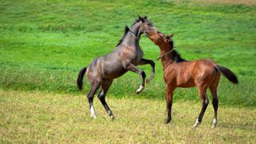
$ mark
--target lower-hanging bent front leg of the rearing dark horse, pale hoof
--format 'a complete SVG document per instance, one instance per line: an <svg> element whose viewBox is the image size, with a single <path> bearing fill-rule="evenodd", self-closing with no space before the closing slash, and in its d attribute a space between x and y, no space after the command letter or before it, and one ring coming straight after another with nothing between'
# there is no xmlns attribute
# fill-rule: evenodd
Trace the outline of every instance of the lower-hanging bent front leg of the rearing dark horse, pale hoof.
<svg viewBox="0 0 256 144"><path fill-rule="evenodd" d="M128 66L126 66L126 70L130 70L134 73L140 74L142 77L142 84L141 86L139 86L138 90L136 90L137 94L140 94L142 92L142 90L144 89L145 86L145 78L146 78L146 74L143 70L138 69L138 67L134 66L134 64L129 64Z"/></svg>

